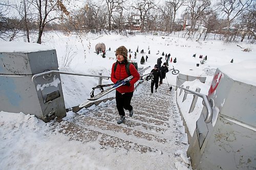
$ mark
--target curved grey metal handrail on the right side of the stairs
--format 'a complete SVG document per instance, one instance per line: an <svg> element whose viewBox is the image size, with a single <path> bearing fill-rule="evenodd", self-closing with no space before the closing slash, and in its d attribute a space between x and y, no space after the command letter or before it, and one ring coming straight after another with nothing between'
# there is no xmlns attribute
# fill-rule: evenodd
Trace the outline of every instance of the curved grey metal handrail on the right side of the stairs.
<svg viewBox="0 0 256 170"><path fill-rule="evenodd" d="M181 89L183 89L183 90L186 90L186 91L188 91L188 92L190 92L190 93L193 93L193 94L195 94L195 95L198 95L200 98L203 99L204 104L205 104L205 107L206 107L206 109L207 109L207 115L206 115L206 117L205 117L205 119L204 119L204 122L205 122L206 124L210 123L210 122L211 122L211 119L212 119L213 111L212 111L212 106L210 105L210 102L209 102L208 99L207 99L207 96L206 96L205 94L203 94L203 93L199 93L199 92L196 92L196 91L193 91L193 90L189 90L189 89L184 88L184 87L180 87L180 86L177 86L177 87L179 87L179 88L181 88ZM211 101L211 100L210 100L210 101ZM211 102L212 102L212 101L211 101Z"/></svg>

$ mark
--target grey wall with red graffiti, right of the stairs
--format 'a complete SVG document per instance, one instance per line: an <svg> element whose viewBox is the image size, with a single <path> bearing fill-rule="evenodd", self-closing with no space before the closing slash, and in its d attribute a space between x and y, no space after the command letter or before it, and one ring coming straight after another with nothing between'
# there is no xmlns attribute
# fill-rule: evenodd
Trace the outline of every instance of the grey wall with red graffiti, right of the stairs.
<svg viewBox="0 0 256 170"><path fill-rule="evenodd" d="M189 141L195 169L256 169L256 87L216 70L208 99L214 99L212 122L205 107Z"/></svg>

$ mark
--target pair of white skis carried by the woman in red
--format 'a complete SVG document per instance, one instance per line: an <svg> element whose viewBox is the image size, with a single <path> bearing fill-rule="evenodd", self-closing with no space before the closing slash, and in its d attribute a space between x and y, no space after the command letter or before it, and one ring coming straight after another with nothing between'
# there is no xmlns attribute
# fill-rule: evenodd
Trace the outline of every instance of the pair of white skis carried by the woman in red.
<svg viewBox="0 0 256 170"><path fill-rule="evenodd" d="M140 70L140 71L139 71L140 76L142 76L143 72L144 72L145 70L147 70L148 68L150 68L150 66L148 66L148 67L146 67L146 68ZM81 108L81 107L84 107L84 106L87 106L87 105L93 103L93 101L96 101L96 100L100 99L102 96L104 96L104 95L110 93L111 91L115 90L116 88L118 88L118 87L120 87L120 86L126 84L127 81L131 81L132 79L133 79L133 76L127 77L126 79L124 79L124 80L122 80L122 81L116 83L116 84L113 85L112 87L110 87L110 88L108 88L108 89L106 89L106 90L104 90L104 91L98 93L97 95L93 96L92 98L88 99L89 101L86 101L86 102L81 103L81 104L79 105L79 107Z"/></svg>

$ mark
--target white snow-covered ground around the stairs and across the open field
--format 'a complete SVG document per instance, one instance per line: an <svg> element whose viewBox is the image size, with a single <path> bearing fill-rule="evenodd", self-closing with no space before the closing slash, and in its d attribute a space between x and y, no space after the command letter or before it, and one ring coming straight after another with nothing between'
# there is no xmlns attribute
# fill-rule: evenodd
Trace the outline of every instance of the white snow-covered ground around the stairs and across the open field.
<svg viewBox="0 0 256 170"><path fill-rule="evenodd" d="M58 62L61 65L63 56L67 48L72 49L71 54L75 57L70 67L60 67L62 71L75 72L78 74L94 74L98 75L102 72L104 76L110 76L111 66L115 60L115 49L124 45L131 49L133 61L138 62L139 67L145 67L156 64L157 58L163 57L162 52L169 54L170 57L177 58L177 63L169 63L169 68L173 66L179 69L181 74L196 77L206 76L203 69L217 68L227 65L236 64L237 69L232 68L233 74L239 75L239 69L248 69L247 75L242 75L243 80L251 80L255 83L256 70L255 67L248 67L249 60L255 61L255 44L246 43L225 43L220 40L207 40L196 42L195 40L186 40L185 38L172 36L153 36L153 35L95 35L88 34L79 38L77 35L64 35L60 32L47 33L44 37L44 44L55 48L57 52ZM95 52L95 45L103 42L106 46L106 57L102 58L101 54ZM68 44L68 45L67 45ZM68 47L67 47L67 46ZM250 48L250 52L243 52L242 48ZM134 52L137 47L139 53L134 59ZM108 51L111 48L111 51ZM148 54L148 48L151 54ZM148 60L144 65L140 64L142 54L144 58L147 55ZM159 54L157 52L159 51ZM196 54L196 57L193 55ZM207 55L205 64L200 64L199 56L203 58ZM233 63L230 63L233 59ZM241 64L239 64L242 62ZM196 65L199 64L199 67ZM148 70L150 71L150 70ZM231 72L229 70L229 72ZM202 84L198 81L186 82L184 86L189 85L190 89L200 86L201 93L207 94L212 77L206 76L206 83ZM241 78L241 77L240 77ZM254 80L253 80L254 79ZM163 83L175 85L176 76L170 72L166 75ZM61 83L65 99L66 108L79 105L90 96L91 88L98 84L97 78L83 76L61 75ZM110 80L103 80L103 84L111 83ZM255 85L255 84L254 84ZM109 94L113 95L114 93ZM180 99L178 99L180 100ZM201 100L201 99L199 99ZM181 110L189 108L190 103L184 102L180 107ZM195 108L194 112L189 114L191 124L195 122L201 113L201 108ZM96 162L94 158L87 155L88 148L82 143L70 141L67 137L50 131L51 123L45 124L33 115L25 115L23 113L7 113L0 111L0 167L1 169L108 169L100 162ZM68 115L70 116L70 115ZM188 123L189 124L189 123ZM194 124L193 124L194 125ZM193 125L191 131L193 131ZM60 144L61 143L61 144ZM92 145L91 145L92 146ZM97 148L95 149L97 151ZM108 152L106 154L114 154ZM104 155L102 155L104 156ZM144 158L146 159L146 158ZM141 162L143 163L143 162Z"/></svg>

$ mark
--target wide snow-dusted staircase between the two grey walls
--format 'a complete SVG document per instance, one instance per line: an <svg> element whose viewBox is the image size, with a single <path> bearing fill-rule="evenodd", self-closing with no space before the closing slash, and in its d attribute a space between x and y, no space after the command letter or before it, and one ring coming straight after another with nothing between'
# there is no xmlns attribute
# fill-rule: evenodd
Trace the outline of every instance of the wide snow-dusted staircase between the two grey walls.
<svg viewBox="0 0 256 170"><path fill-rule="evenodd" d="M102 154L122 151L125 153L124 159L134 163L144 162L143 166L127 166L124 162L120 164L121 169L175 169L175 152L186 151L188 147L176 105L176 92L174 89L167 91L168 86L162 84L157 93L151 94L150 83L142 83L134 92L134 115L129 117L126 111L124 124L117 124L119 115L113 100L80 110L67 120L55 122L53 129L58 129L70 140L97 143ZM144 159L135 160L138 159L135 153ZM116 157L112 155L110 162L119 157L120 154L116 154ZM105 164L110 169L120 169L116 164Z"/></svg>

